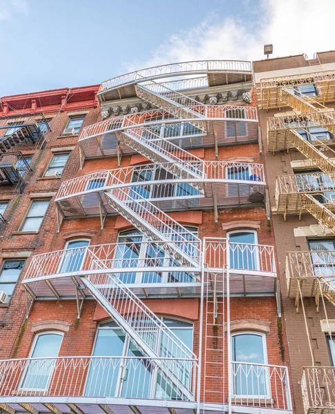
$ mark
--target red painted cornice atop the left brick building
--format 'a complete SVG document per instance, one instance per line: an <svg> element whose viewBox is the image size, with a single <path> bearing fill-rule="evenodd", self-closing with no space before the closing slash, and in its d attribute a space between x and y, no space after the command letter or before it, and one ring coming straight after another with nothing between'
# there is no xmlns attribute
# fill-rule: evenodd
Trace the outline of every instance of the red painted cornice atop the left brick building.
<svg viewBox="0 0 335 414"><path fill-rule="evenodd" d="M41 92L25 93L0 98L0 116L45 114L59 110L79 110L97 108L97 92L100 85L80 86L79 88L61 88L42 90Z"/></svg>

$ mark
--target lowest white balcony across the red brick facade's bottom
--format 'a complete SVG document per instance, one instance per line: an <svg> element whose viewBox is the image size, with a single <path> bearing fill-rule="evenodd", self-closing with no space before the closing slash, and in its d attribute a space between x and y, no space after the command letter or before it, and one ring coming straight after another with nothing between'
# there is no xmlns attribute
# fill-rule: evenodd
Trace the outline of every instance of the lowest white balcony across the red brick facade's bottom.
<svg viewBox="0 0 335 414"><path fill-rule="evenodd" d="M164 361L181 383L192 389L190 401L170 384ZM292 413L290 383L284 366L232 363L232 395L236 413ZM228 404L196 397L196 366L186 359L148 357L57 357L0 361L0 408L17 411L81 413L187 414L227 411ZM227 395L227 402L229 398ZM93 410L93 411L92 411Z"/></svg>

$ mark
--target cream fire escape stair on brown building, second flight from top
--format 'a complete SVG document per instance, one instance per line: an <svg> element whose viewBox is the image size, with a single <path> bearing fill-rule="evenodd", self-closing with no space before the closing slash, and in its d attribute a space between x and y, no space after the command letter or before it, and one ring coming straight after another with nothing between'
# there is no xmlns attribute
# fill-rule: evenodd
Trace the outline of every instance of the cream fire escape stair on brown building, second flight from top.
<svg viewBox="0 0 335 414"><path fill-rule="evenodd" d="M298 151L300 151L305 157L307 157L312 163L320 168L323 172L334 172L335 171L335 164L334 162L329 159L321 150L316 148L313 144L311 144L307 139L303 139L303 137L296 132L296 130L290 130L290 134L288 136L288 141L290 144L294 146ZM327 149L321 141L321 149Z"/></svg>

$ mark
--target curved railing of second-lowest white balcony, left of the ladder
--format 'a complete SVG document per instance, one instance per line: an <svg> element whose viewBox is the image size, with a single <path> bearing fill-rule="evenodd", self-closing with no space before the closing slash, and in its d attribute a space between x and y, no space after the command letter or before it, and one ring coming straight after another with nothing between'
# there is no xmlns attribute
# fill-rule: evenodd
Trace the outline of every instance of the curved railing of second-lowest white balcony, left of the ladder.
<svg viewBox="0 0 335 414"><path fill-rule="evenodd" d="M57 275L85 276L90 273L110 273L112 270L112 273L119 274L123 283L134 283L134 274L139 272L149 275L153 272L175 272L181 277L179 282L194 282L189 274L182 273L179 269L179 253L176 253L174 246L179 246L199 262L199 246L194 241L101 244L35 255L23 280ZM104 269L97 267L97 263L103 264ZM183 266L182 271L192 272L193 268ZM154 279L154 275L152 278Z"/></svg>

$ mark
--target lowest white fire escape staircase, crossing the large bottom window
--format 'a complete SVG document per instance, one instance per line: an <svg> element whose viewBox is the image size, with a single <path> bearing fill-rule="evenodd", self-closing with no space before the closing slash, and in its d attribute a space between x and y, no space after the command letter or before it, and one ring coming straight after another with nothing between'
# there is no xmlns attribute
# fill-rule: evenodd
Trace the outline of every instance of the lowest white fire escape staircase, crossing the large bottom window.
<svg viewBox="0 0 335 414"><path fill-rule="evenodd" d="M96 267L106 266L97 259ZM197 360L190 348L118 277L100 274L81 277L81 280L143 354L153 358L153 364L165 375L167 382L175 386L177 396L194 401L192 382Z"/></svg>

